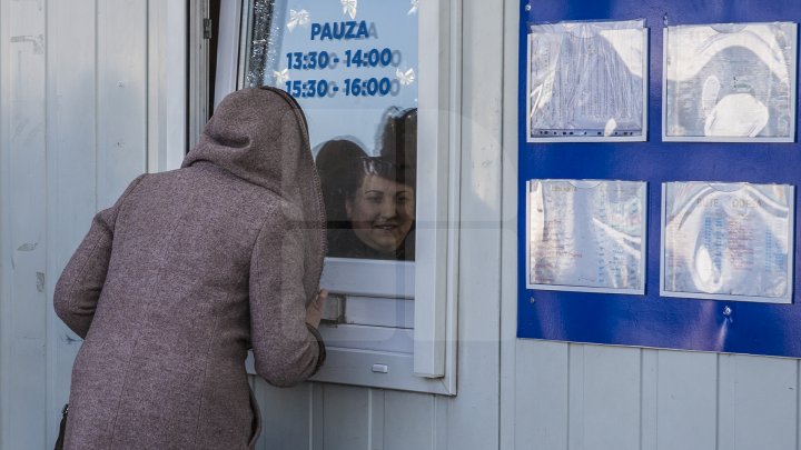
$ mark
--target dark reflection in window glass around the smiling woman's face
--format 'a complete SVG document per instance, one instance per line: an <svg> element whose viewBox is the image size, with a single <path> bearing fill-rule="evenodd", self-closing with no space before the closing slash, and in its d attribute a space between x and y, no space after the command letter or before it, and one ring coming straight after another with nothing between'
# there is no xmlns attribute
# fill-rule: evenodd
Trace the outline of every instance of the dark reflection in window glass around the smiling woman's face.
<svg viewBox="0 0 801 450"><path fill-rule="evenodd" d="M417 111L389 116L380 146L334 140L317 156L330 257L414 260Z"/></svg>

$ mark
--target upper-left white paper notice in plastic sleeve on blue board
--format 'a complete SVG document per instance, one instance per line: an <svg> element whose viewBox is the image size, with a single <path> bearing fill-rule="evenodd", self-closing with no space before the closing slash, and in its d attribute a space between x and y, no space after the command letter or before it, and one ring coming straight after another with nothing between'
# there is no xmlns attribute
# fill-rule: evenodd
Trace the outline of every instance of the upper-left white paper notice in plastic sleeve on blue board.
<svg viewBox="0 0 801 450"><path fill-rule="evenodd" d="M532 26L528 141L644 139L642 20Z"/></svg>

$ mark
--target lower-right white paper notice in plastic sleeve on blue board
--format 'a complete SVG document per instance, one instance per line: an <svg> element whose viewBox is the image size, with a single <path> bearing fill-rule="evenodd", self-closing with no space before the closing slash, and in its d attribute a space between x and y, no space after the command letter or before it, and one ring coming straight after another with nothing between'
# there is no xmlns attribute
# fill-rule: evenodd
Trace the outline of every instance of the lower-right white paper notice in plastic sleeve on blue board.
<svg viewBox="0 0 801 450"><path fill-rule="evenodd" d="M789 303L793 187L662 187L662 294Z"/></svg>

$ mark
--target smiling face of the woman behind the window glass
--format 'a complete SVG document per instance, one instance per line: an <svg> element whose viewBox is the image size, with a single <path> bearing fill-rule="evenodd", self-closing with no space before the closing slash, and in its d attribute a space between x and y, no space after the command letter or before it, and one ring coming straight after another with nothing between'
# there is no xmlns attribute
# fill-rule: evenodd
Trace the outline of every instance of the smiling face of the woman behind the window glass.
<svg viewBox="0 0 801 450"><path fill-rule="evenodd" d="M415 220L415 193L412 187L366 174L353 199L345 202L356 236L368 247L394 253Z"/></svg>

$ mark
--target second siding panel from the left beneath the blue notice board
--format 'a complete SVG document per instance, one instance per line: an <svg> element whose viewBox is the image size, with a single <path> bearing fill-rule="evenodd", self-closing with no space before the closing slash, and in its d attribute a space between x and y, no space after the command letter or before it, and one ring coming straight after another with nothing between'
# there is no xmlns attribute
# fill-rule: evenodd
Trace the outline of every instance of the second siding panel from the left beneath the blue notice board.
<svg viewBox="0 0 801 450"><path fill-rule="evenodd" d="M640 448L641 350L585 346L583 349L583 449Z"/></svg>

